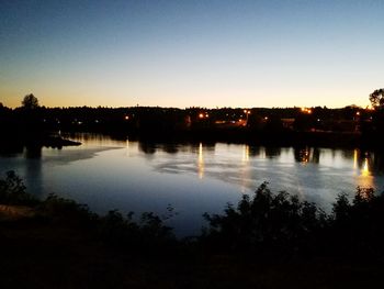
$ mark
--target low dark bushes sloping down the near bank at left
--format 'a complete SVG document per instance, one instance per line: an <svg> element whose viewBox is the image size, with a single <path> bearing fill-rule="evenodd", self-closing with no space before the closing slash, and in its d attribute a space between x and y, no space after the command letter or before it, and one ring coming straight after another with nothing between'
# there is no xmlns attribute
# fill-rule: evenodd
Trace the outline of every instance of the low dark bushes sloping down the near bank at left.
<svg viewBox="0 0 384 289"><path fill-rule="evenodd" d="M100 216L87 204L53 193L45 200L38 200L26 192L22 179L14 171L8 171L5 178L0 179L0 204L33 207L37 222L80 230L95 240L121 248L133 246L163 249L176 240L172 229L166 226L153 212L143 213L135 222L133 213L124 216L113 210Z"/></svg>

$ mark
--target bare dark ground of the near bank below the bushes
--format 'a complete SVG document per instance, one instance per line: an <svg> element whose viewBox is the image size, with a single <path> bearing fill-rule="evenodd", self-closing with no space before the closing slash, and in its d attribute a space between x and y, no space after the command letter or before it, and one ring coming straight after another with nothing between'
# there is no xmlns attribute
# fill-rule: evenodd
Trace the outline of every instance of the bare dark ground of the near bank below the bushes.
<svg viewBox="0 0 384 289"><path fill-rule="evenodd" d="M1 222L2 288L377 288L382 263L208 253L176 245L165 253L100 243L74 225Z"/></svg>

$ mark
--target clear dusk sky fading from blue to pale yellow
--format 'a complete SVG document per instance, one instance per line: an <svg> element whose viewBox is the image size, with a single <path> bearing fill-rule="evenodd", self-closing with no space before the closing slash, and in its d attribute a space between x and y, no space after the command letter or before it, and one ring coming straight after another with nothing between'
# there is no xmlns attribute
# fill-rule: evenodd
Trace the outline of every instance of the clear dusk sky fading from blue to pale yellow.
<svg viewBox="0 0 384 289"><path fill-rule="evenodd" d="M0 102L368 105L383 0L0 0Z"/></svg>

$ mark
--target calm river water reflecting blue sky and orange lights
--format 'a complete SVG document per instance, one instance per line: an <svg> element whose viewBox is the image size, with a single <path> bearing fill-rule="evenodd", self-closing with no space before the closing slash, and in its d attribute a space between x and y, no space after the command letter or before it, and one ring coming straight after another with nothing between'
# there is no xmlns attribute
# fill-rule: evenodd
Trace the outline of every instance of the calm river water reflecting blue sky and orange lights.
<svg viewBox="0 0 384 289"><path fill-rule="evenodd" d="M81 146L24 149L0 156L0 173L15 170L27 190L87 203L105 213L178 213L167 221L179 236L199 234L204 212L219 213L263 181L314 201L326 211L340 192L384 188L381 154L359 149L260 147L247 144L155 144L78 134Z"/></svg>

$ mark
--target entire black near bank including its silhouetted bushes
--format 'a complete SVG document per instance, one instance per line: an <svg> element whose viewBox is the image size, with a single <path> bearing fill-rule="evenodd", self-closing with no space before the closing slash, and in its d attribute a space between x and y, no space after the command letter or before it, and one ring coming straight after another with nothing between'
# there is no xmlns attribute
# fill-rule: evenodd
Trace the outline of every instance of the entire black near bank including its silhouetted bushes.
<svg viewBox="0 0 384 289"><path fill-rule="evenodd" d="M263 185L210 230L176 240L161 219L140 223L0 181L3 288L377 288L383 285L384 198L359 190L334 214ZM256 210L253 210L255 208ZM261 219L260 219L261 218ZM16 285L16 286L15 286Z"/></svg>

